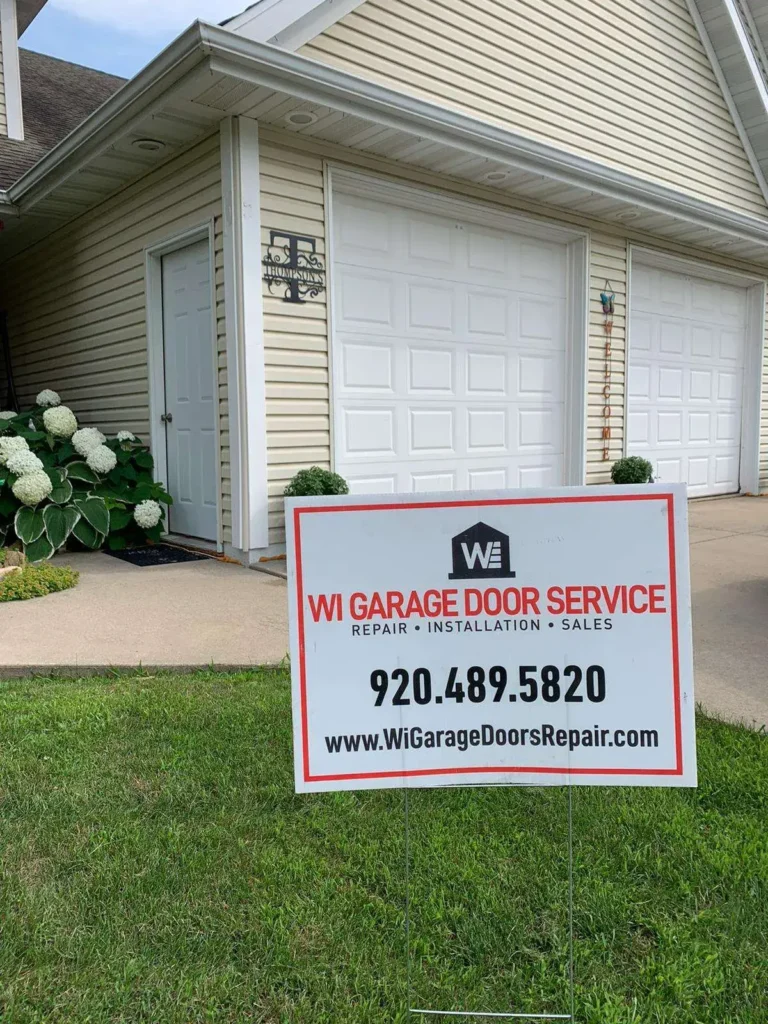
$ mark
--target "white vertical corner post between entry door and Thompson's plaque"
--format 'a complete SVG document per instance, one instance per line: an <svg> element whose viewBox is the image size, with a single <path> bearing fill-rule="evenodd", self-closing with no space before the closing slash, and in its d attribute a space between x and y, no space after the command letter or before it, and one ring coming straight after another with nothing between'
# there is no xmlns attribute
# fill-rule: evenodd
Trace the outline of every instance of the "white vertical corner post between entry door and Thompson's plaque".
<svg viewBox="0 0 768 1024"><path fill-rule="evenodd" d="M269 544L258 124L221 123L232 545Z"/></svg>

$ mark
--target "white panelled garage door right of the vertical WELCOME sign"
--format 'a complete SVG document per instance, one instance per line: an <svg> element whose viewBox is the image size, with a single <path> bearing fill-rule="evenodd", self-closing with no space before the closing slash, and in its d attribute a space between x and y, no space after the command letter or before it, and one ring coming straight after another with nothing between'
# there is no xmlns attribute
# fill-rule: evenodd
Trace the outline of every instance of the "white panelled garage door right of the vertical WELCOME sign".
<svg viewBox="0 0 768 1024"><path fill-rule="evenodd" d="M746 291L632 271L628 454L691 497L739 489Z"/></svg>

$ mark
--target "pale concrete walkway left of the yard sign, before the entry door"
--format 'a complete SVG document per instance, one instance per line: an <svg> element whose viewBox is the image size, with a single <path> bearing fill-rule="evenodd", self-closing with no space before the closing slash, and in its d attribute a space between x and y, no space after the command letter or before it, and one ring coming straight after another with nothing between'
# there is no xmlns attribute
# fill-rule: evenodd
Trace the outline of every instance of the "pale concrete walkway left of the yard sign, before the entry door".
<svg viewBox="0 0 768 1024"><path fill-rule="evenodd" d="M65 555L71 591L0 605L0 678L52 668L275 665L288 652L286 583L206 558L138 568Z"/></svg>

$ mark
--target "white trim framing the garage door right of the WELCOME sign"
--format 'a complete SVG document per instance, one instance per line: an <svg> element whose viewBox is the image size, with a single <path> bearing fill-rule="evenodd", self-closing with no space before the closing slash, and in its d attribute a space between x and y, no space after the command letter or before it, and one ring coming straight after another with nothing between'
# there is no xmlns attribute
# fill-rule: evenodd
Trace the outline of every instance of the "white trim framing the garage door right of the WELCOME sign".
<svg viewBox="0 0 768 1024"><path fill-rule="evenodd" d="M735 285L746 292L746 350L741 394L741 446L738 493L760 494L760 419L763 390L763 357L766 332L766 279L729 270L702 260L628 245L627 253L627 337L624 366L624 432L622 454L627 455L627 424L630 409L630 355L632 348L632 270L636 263L672 273L686 273L705 281ZM720 497L720 496L715 496Z"/></svg>

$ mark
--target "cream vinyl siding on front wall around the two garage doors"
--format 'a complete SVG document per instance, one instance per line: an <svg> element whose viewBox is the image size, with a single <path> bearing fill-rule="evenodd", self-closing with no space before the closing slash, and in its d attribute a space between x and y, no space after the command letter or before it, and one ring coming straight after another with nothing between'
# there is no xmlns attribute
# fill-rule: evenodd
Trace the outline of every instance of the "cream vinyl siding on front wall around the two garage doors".
<svg viewBox="0 0 768 1024"><path fill-rule="evenodd" d="M470 185L427 171L375 157L349 154L341 146L299 139L287 132L260 132L263 242L269 228L288 228L317 240L326 251L324 158L358 167L392 180L453 191L463 199L499 204L508 210L588 228L590 254L590 330L587 409L587 482L606 483L610 467L624 454L624 403L627 324L627 270L630 242L677 256L700 259L734 270L766 276L764 268L718 258L711 253L676 246L639 232L617 234L606 225L580 219L563 211L542 207L488 187ZM615 292L615 313L610 353L610 460L603 459L605 398L605 334L600 292L606 280ZM329 291L332 283L329 282ZM267 430L269 468L270 544L285 540L283 489L296 472L313 464L330 466L331 404L328 374L329 328L324 301L304 306L281 302L265 295L265 347L267 379ZM327 298L327 295L323 297ZM763 415L761 420L761 490L768 490L768 341L765 355Z"/></svg>

